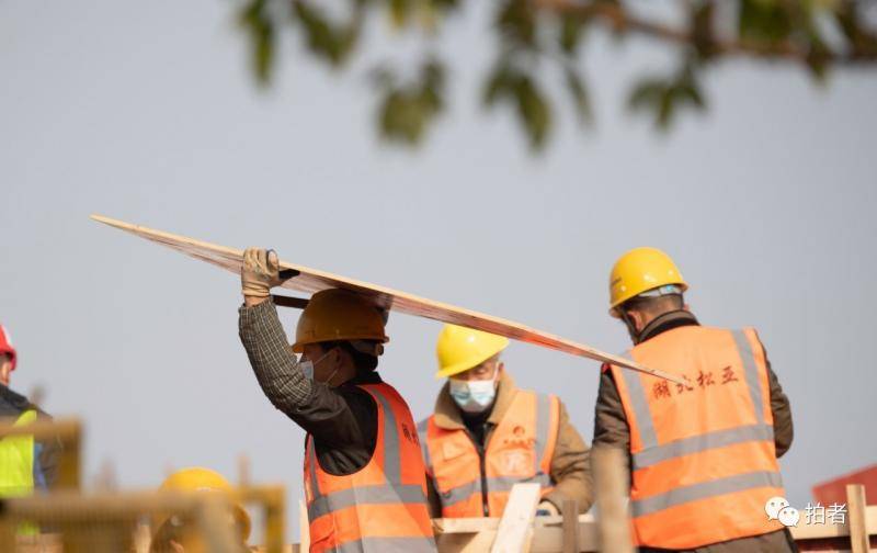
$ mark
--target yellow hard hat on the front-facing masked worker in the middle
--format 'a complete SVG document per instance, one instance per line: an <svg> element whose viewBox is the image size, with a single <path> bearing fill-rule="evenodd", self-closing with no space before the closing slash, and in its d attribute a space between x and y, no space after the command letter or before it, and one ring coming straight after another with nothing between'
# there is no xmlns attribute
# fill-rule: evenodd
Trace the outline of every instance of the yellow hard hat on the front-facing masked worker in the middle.
<svg viewBox="0 0 877 553"><path fill-rule="evenodd" d="M509 339L474 328L445 325L435 345L436 379L453 376L479 365L509 346Z"/></svg>

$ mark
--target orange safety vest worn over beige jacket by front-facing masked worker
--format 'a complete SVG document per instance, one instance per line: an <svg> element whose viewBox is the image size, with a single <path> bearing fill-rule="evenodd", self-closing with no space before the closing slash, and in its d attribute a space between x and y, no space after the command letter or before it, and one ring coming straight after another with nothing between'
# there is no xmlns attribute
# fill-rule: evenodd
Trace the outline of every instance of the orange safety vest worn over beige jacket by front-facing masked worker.
<svg viewBox="0 0 877 553"><path fill-rule="evenodd" d="M423 458L442 517L501 517L512 485L522 482L538 482L548 494L559 419L556 396L517 390L483 456L465 429L440 428L434 415L421 422Z"/></svg>

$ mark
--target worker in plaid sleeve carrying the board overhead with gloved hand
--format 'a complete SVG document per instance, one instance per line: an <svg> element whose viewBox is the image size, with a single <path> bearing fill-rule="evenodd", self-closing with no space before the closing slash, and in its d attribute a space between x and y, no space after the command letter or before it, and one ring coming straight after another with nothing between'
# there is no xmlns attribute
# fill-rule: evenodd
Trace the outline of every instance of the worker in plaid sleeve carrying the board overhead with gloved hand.
<svg viewBox="0 0 877 553"><path fill-rule="evenodd" d="M270 294L281 282L273 251L244 252L240 338L264 394L307 432L310 550L435 551L417 427L375 371L389 340L380 312L345 290L317 292L291 349Z"/></svg>

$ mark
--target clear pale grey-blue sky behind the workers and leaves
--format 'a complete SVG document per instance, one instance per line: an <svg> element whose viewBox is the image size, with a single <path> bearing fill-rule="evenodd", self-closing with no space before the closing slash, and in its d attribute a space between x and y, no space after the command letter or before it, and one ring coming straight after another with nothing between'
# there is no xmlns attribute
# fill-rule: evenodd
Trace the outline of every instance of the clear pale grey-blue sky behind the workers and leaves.
<svg viewBox="0 0 877 553"><path fill-rule="evenodd" d="M111 462L125 486L192 464L234 477L246 453L297 501L304 441L251 373L237 278L90 213L272 247L612 352L628 340L606 315L608 270L657 246L703 323L759 329L791 399L793 505L877 461L875 72L818 87L729 61L707 75L709 112L660 136L624 99L668 53L596 35L583 64L596 128L579 132L565 106L534 158L508 114L480 111L493 44L485 13L467 13L442 38L453 106L409 154L374 140L362 63L335 75L287 41L259 92L231 5L0 3L0 321L20 350L13 388L42 384L48 411L84 419L88 476ZM369 59L399 44L383 25L367 41ZM390 318L380 372L418 418L440 387L438 329ZM521 343L505 361L522 386L559 394L590 442L596 363Z"/></svg>

